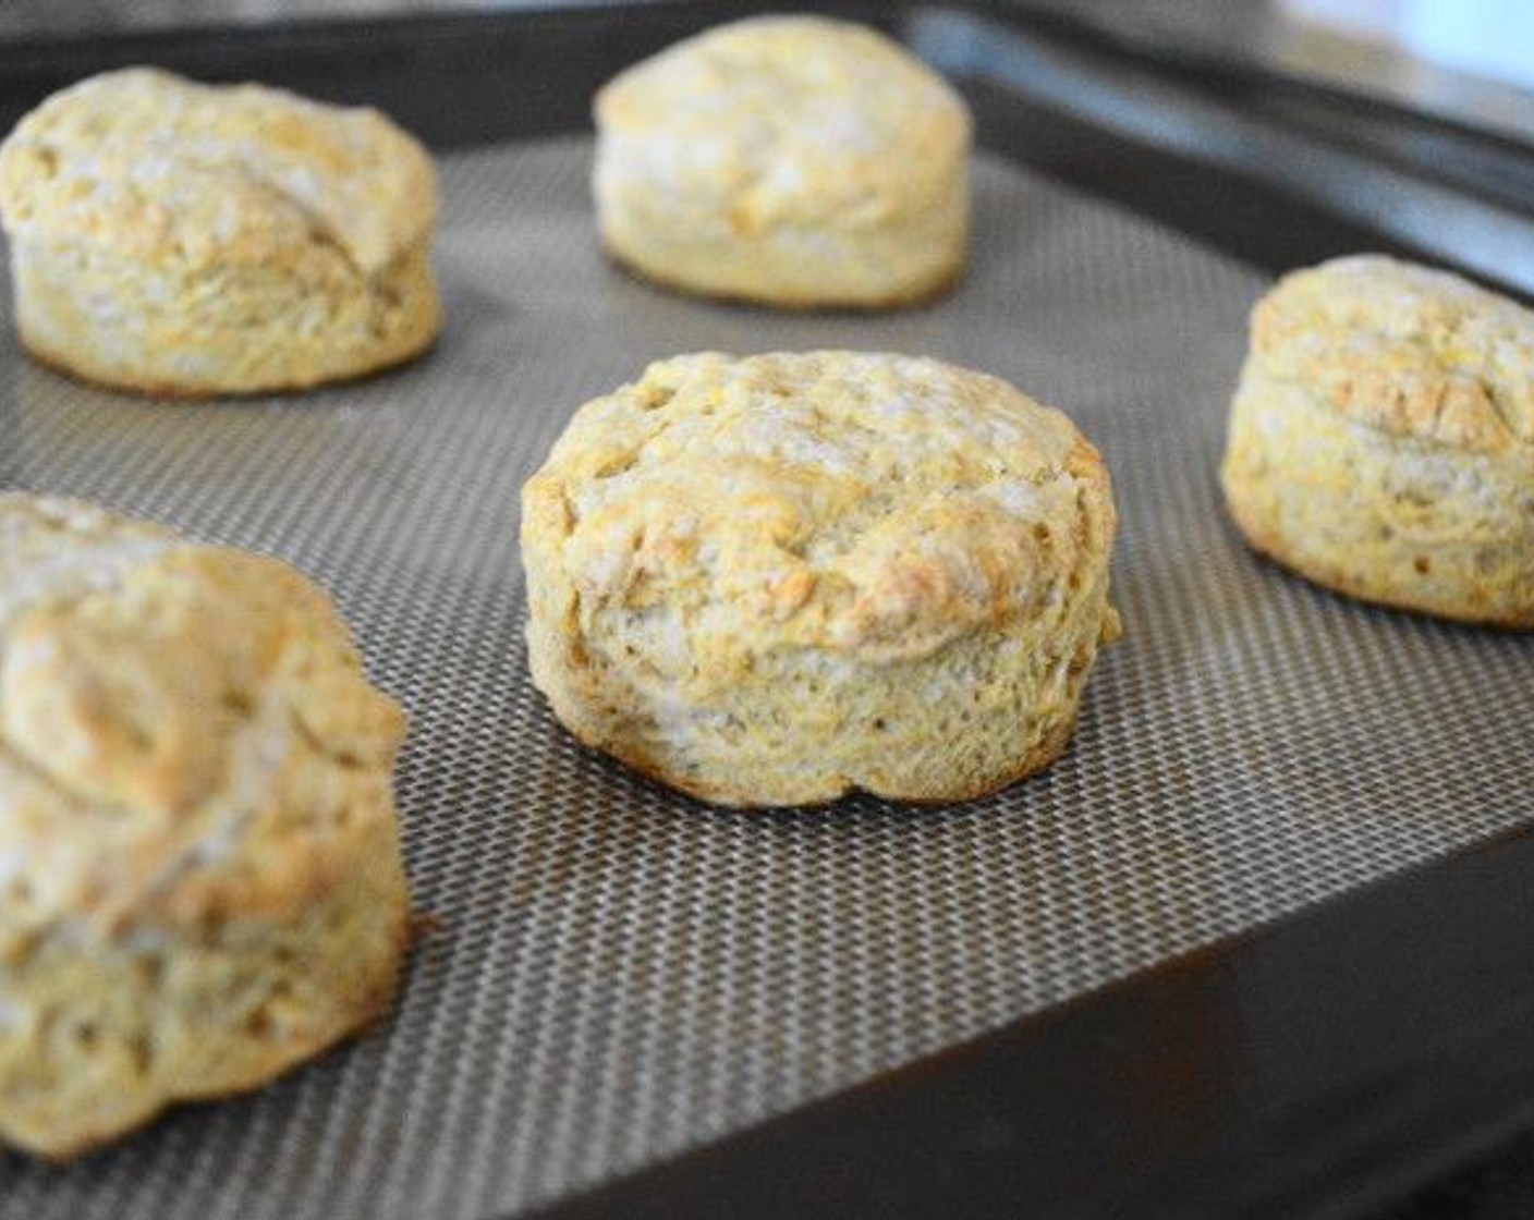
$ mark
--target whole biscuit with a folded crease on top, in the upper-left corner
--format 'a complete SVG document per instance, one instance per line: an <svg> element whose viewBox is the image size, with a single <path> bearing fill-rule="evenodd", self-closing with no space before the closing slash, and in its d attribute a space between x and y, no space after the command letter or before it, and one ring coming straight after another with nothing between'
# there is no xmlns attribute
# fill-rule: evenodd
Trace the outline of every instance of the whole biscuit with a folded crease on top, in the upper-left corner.
<svg viewBox="0 0 1534 1220"><path fill-rule="evenodd" d="M86 381L204 397L419 354L436 181L376 110L147 68L81 81L0 146L21 345Z"/></svg>

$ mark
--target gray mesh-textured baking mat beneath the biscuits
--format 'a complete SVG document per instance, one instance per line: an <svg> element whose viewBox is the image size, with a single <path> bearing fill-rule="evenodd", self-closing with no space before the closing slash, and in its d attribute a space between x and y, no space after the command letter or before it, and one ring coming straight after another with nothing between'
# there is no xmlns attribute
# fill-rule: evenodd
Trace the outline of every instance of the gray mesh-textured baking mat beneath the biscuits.
<svg viewBox="0 0 1534 1220"><path fill-rule="evenodd" d="M5 361L0 485L273 551L337 594L411 711L399 800L439 927L360 1044L63 1171L3 1159L0 1217L509 1214L1534 812L1531 641L1315 591L1221 519L1261 276L980 158L948 301L715 307L603 264L588 155L446 158L449 327L402 373L156 405ZM517 488L652 358L838 345L1069 410L1117 480L1127 635L1072 749L1000 796L710 810L577 749L529 687Z"/></svg>

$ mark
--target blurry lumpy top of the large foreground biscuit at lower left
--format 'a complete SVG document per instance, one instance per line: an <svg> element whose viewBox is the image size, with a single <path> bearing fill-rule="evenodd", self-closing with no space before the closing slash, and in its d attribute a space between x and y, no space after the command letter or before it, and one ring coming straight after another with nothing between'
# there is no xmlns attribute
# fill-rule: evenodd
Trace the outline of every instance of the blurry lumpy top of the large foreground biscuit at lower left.
<svg viewBox="0 0 1534 1220"><path fill-rule="evenodd" d="M282 916L393 816L403 715L278 560L0 496L0 910Z"/></svg>

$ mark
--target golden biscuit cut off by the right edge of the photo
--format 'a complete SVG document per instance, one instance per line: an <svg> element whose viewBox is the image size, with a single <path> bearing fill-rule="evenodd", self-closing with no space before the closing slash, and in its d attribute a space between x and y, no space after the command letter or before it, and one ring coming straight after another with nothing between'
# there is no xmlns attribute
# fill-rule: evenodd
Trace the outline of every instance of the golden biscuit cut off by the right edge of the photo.
<svg viewBox="0 0 1534 1220"><path fill-rule="evenodd" d="M1534 629L1534 313L1384 256L1285 276L1221 480L1250 545L1319 585Z"/></svg>

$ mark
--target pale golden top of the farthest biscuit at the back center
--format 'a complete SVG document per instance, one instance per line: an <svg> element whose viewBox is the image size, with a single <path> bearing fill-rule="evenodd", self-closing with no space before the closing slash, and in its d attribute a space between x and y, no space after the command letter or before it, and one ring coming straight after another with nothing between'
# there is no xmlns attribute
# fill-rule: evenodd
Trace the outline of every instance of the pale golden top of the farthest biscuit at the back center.
<svg viewBox="0 0 1534 1220"><path fill-rule="evenodd" d="M858 229L925 206L968 155L969 112L937 74L864 26L756 17L615 77L597 123L637 176L732 199L742 232Z"/></svg>

